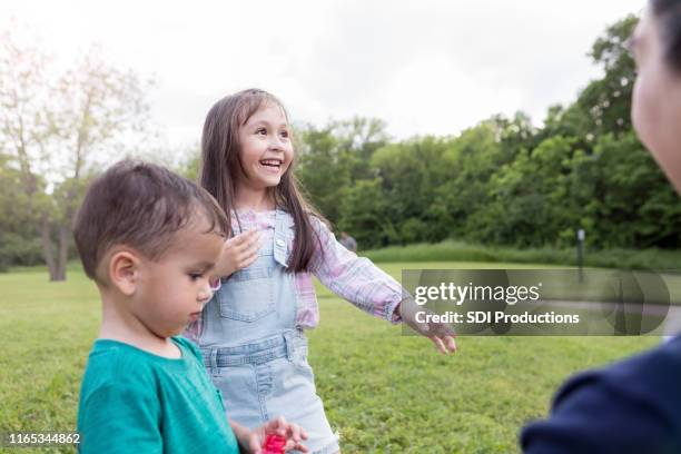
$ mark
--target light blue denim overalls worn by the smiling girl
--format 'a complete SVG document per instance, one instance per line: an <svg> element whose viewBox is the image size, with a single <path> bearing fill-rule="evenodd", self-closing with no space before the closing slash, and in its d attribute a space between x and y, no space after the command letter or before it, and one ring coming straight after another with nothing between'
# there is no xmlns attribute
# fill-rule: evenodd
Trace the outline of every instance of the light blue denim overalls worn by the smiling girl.
<svg viewBox="0 0 681 454"><path fill-rule="evenodd" d="M296 328L295 274L286 273L293 218L275 213L275 231L257 259L223 279L206 305L199 346L227 415L249 428L284 416L308 434L310 453L338 448L307 364L307 338Z"/></svg>

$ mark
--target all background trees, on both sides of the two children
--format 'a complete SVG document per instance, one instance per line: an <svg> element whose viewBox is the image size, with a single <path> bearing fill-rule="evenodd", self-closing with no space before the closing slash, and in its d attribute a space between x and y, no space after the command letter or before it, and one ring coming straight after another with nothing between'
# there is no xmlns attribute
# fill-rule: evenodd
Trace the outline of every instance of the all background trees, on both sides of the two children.
<svg viewBox="0 0 681 454"><path fill-rule="evenodd" d="M297 176L362 248L445 238L563 248L580 228L594 248L680 248L681 203L630 119L635 68L625 42L636 20L593 43L603 76L549 108L541 127L522 111L406 140L391 139L379 119L302 125ZM144 128L147 82L97 53L55 78L38 49L1 38L0 268L43 263L60 280L98 152L144 152L121 137ZM175 170L195 177L197 167L198 152Z"/></svg>

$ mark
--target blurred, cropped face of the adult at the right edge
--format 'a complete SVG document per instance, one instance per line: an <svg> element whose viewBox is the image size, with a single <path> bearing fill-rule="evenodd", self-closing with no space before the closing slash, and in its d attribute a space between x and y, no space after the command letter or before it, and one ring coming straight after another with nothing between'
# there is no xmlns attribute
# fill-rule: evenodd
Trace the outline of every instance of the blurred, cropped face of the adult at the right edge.
<svg viewBox="0 0 681 454"><path fill-rule="evenodd" d="M641 141L681 193L681 76L664 61L659 23L648 11L631 38L638 77L632 120Z"/></svg>

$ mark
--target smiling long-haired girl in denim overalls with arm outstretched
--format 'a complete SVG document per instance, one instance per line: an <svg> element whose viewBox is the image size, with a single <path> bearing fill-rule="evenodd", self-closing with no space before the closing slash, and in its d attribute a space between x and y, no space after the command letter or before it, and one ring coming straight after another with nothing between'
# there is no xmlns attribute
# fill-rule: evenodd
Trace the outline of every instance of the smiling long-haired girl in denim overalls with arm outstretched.
<svg viewBox="0 0 681 454"><path fill-rule="evenodd" d="M230 417L255 427L275 415L299 424L310 453L339 451L307 364L304 330L319 322L312 274L386 320L404 319L442 353L456 345L445 325L418 325L395 279L347 250L305 201L283 105L245 90L208 112L201 185L231 215L217 274L221 288L187 335L201 348Z"/></svg>

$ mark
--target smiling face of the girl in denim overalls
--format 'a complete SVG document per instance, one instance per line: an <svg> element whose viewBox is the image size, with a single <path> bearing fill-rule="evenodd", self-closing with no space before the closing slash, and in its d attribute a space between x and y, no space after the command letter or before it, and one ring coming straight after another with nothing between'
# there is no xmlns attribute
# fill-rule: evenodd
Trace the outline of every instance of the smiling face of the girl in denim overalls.
<svg viewBox="0 0 681 454"><path fill-rule="evenodd" d="M239 144L243 172L238 184L264 190L279 184L294 158L284 110L274 103L260 107L241 128Z"/></svg>

